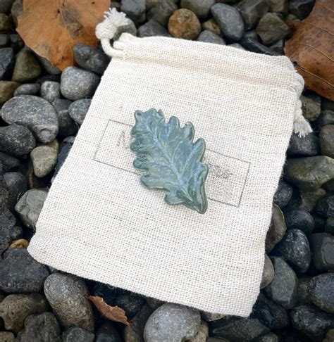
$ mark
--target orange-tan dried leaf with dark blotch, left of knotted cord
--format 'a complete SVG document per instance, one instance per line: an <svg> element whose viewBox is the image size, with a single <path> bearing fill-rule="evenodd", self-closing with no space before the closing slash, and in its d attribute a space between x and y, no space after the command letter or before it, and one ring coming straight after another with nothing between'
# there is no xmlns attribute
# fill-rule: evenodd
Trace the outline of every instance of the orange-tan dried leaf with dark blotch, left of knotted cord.
<svg viewBox="0 0 334 342"><path fill-rule="evenodd" d="M110 0L23 0L16 29L27 46L63 70L74 64L73 46L97 46L95 26Z"/></svg>

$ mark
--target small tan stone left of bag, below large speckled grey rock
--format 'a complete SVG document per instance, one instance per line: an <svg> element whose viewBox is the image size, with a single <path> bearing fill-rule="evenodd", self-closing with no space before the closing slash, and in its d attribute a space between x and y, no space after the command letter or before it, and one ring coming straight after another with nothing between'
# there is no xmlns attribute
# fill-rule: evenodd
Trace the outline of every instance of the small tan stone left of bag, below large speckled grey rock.
<svg viewBox="0 0 334 342"><path fill-rule="evenodd" d="M58 153L55 148L49 146L37 146L31 153L30 158L34 166L34 173L37 177L48 175L57 163Z"/></svg>

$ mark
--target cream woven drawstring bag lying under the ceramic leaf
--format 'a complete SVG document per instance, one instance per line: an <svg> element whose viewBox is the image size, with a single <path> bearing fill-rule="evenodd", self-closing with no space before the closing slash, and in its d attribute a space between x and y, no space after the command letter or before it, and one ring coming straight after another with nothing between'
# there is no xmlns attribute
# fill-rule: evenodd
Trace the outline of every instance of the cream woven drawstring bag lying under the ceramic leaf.
<svg viewBox="0 0 334 342"><path fill-rule="evenodd" d="M115 10L97 26L112 56L28 251L57 270L144 296L247 316L259 294L273 194L303 80L285 56L123 33ZM164 203L132 165L135 110L156 108L204 138L204 215Z"/></svg>

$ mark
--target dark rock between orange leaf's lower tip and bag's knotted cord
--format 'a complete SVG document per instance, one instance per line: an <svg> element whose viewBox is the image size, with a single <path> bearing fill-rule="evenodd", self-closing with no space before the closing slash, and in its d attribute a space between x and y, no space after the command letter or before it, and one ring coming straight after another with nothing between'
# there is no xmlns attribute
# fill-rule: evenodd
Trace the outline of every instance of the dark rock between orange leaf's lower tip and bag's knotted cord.
<svg viewBox="0 0 334 342"><path fill-rule="evenodd" d="M75 61L89 71L102 75L110 62L110 58L101 50L87 44L78 43L73 48Z"/></svg>

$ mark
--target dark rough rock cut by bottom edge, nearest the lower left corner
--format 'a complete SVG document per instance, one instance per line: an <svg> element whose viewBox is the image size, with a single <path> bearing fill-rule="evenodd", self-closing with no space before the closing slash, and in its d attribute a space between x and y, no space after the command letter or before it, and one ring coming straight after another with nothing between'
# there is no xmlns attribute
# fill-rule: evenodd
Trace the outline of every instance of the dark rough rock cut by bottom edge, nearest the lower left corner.
<svg viewBox="0 0 334 342"><path fill-rule="evenodd" d="M16 342L61 342L61 329L51 312L31 315L25 319L25 329L18 333Z"/></svg>

